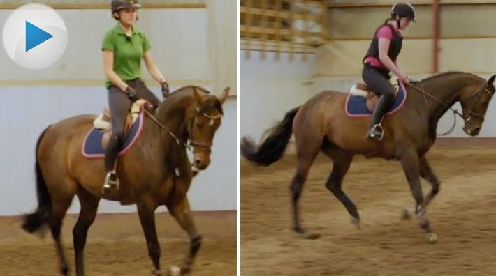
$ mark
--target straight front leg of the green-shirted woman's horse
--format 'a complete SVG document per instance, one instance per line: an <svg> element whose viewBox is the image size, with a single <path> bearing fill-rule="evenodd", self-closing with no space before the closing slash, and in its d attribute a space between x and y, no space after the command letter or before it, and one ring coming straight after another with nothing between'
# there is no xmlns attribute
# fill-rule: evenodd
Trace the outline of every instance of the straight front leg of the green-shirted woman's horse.
<svg viewBox="0 0 496 276"><path fill-rule="evenodd" d="M147 240L148 254L152 259L152 275L160 274L160 245L156 237L155 227L155 209L156 204L152 197L141 196L136 204L138 206L138 215L140 217L141 227Z"/></svg>

